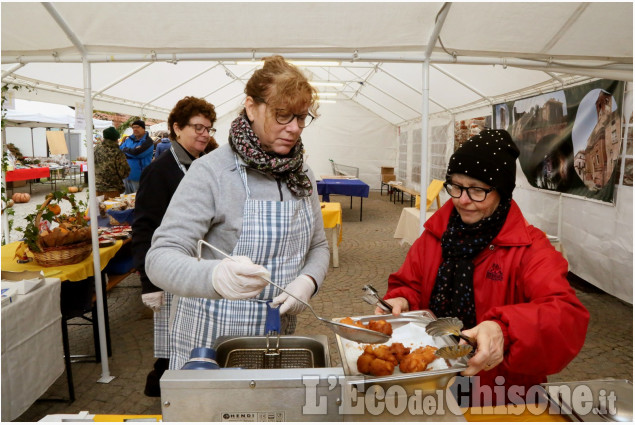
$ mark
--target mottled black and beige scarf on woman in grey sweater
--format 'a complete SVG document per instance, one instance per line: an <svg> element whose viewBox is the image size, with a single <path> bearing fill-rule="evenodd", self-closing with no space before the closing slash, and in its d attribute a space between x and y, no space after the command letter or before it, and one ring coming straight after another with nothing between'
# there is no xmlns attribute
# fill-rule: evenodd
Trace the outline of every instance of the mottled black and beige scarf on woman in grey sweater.
<svg viewBox="0 0 635 425"><path fill-rule="evenodd" d="M244 115L236 118L229 130L229 144L245 163L257 170L282 179L295 196L306 197L313 193L309 176L302 170L304 145L302 139L291 149L289 155L279 156L262 150L258 136L251 129Z"/></svg>

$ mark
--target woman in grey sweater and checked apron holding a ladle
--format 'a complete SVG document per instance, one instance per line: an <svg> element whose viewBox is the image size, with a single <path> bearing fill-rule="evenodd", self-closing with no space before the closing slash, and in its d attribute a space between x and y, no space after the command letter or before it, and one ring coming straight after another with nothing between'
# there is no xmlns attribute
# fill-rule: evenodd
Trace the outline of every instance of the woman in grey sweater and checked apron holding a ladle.
<svg viewBox="0 0 635 425"><path fill-rule="evenodd" d="M280 316L282 333L293 333L304 306L265 279L308 301L328 269L317 187L300 138L316 116L317 92L273 56L245 94L229 143L192 165L146 257L152 282L179 296L170 369L220 336L264 335L267 315ZM199 240L231 258L202 246L198 261Z"/></svg>

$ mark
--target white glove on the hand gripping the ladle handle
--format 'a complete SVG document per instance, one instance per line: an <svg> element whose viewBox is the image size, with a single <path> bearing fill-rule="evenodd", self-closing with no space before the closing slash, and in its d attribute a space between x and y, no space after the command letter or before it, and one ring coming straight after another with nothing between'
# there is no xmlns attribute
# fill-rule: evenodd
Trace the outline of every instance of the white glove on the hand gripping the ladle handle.
<svg viewBox="0 0 635 425"><path fill-rule="evenodd" d="M267 286L263 277L271 278L269 270L254 264L248 257L234 256L225 258L214 268L212 285L221 297L242 300L255 297Z"/></svg>

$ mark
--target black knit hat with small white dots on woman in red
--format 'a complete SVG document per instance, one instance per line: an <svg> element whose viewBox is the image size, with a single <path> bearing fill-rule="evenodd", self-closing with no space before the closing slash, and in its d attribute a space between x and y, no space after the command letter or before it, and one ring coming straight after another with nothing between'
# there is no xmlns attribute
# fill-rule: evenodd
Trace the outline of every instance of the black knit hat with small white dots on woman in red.
<svg viewBox="0 0 635 425"><path fill-rule="evenodd" d="M450 174L465 174L496 187L501 198L509 199L516 187L516 158L519 154L508 132L483 130L454 152L446 179L450 180Z"/></svg>

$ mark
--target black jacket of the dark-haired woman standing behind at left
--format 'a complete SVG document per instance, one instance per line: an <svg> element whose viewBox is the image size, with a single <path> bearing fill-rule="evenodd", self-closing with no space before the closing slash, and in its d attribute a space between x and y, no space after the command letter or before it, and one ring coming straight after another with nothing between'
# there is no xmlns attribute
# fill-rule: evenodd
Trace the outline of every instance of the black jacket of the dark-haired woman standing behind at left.
<svg viewBox="0 0 635 425"><path fill-rule="evenodd" d="M176 142L174 150L187 170L194 157ZM152 161L141 173L139 190L135 197L135 219L132 224L132 252L134 266L141 277L141 293L158 292L163 289L150 282L145 273L146 253L152 243L152 235L161 224L172 195L183 179L183 171L171 152Z"/></svg>

